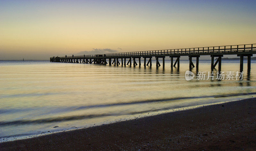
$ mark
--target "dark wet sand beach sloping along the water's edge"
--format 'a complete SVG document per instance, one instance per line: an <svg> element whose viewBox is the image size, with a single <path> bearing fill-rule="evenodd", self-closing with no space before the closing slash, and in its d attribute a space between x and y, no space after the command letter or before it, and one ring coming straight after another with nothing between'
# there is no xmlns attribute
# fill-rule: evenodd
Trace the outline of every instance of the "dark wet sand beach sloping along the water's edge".
<svg viewBox="0 0 256 151"><path fill-rule="evenodd" d="M256 150L256 99L0 144L0 150Z"/></svg>

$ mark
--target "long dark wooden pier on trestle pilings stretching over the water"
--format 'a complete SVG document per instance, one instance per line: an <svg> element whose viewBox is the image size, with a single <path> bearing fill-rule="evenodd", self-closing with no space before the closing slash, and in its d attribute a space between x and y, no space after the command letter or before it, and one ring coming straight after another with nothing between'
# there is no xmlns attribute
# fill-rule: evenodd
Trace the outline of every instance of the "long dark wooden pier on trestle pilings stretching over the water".
<svg viewBox="0 0 256 151"><path fill-rule="evenodd" d="M82 55L82 56L65 56L65 57L50 57L50 62L61 63L83 63L83 64L114 64L120 65L119 59L121 59L121 65L141 66L141 57L144 58L144 66L152 66L152 57L156 59L156 67L161 66L158 59L163 59L163 67L165 64L165 57L170 57L171 68L180 68L180 56L188 56L189 69L195 67L192 62L192 58L196 57L196 69L198 70L199 57L209 55L211 56L211 69L213 70L218 64L218 70L221 70L221 58L223 55L237 55L240 57L240 72L243 71L244 57L247 57L247 69L251 70L251 57L256 54L256 44L244 44L244 45L228 45L228 46L213 46L213 47L197 47L197 48L185 48L185 49L168 49L168 50L151 50L151 51L137 51L137 52L121 52L110 53L102 55ZM214 63L214 58L218 57ZM113 62L112 62L113 59ZM126 61L128 60L127 64ZM136 60L137 59L137 60ZM148 61L147 61L148 59ZM176 61L173 64L173 59ZM107 62L108 60L108 62ZM137 64L137 62L139 64Z"/></svg>

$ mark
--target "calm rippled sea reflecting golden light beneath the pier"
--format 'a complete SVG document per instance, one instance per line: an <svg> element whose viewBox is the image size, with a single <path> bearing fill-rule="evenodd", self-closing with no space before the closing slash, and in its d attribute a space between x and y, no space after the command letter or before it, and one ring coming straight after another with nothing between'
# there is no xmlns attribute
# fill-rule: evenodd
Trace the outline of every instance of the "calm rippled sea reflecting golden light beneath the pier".
<svg viewBox="0 0 256 151"><path fill-rule="evenodd" d="M0 61L0 142L256 96L255 60L242 80L206 80L208 60L199 61L205 80L185 79L187 60L180 71L152 64ZM239 71L239 60L223 60L222 71Z"/></svg>

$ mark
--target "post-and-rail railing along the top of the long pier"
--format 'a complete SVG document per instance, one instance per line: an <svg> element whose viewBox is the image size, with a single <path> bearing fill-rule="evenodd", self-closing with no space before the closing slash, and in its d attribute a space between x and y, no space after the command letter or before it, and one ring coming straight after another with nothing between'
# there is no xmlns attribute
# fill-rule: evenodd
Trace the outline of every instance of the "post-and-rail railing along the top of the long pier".
<svg viewBox="0 0 256 151"><path fill-rule="evenodd" d="M184 49L165 49L165 50L150 50L150 51L135 51L135 52L120 52L109 53L104 55L80 55L80 56L68 56L59 57L64 58L82 58L82 57L126 57L126 56L148 56L148 55L173 55L173 54L192 54L192 53L228 53L228 52L246 52L256 51L256 44L244 44L244 45L228 45L228 46L212 46L212 47L196 47L196 48L184 48Z"/></svg>

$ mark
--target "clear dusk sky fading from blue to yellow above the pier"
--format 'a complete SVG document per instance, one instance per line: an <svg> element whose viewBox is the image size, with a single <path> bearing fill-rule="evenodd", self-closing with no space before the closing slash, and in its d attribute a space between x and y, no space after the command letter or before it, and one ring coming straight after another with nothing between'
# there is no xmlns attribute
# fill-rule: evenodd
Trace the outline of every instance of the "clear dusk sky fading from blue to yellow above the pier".
<svg viewBox="0 0 256 151"><path fill-rule="evenodd" d="M0 60L256 43L255 0L0 0Z"/></svg>

